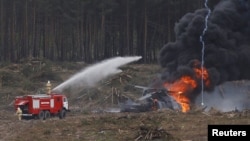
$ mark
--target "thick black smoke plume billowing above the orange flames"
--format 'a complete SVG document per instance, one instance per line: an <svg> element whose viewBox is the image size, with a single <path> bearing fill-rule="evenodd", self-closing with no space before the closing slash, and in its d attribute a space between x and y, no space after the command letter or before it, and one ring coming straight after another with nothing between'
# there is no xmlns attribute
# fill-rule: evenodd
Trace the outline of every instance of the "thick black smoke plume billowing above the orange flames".
<svg viewBox="0 0 250 141"><path fill-rule="evenodd" d="M174 82L182 75L194 74L192 68L202 58L200 35L207 14L206 8L187 13L175 25L176 40L164 45L159 54L159 63L164 68L163 81ZM205 90L226 81L249 79L250 0L220 1L212 9L207 25L203 37L204 67L211 85ZM200 86L194 93L200 93Z"/></svg>

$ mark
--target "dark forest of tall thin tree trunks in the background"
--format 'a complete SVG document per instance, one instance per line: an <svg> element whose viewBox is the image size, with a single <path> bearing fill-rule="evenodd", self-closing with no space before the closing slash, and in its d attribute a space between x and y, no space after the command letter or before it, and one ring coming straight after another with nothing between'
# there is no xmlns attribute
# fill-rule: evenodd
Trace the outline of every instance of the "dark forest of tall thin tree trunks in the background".
<svg viewBox="0 0 250 141"><path fill-rule="evenodd" d="M157 60L174 25L201 0L0 0L0 62Z"/></svg>

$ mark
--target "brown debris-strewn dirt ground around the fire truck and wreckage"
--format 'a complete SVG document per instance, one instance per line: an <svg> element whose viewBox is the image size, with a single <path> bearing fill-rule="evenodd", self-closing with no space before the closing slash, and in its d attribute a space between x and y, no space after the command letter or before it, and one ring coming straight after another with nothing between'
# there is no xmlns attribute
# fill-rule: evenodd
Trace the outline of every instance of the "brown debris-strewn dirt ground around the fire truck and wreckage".
<svg viewBox="0 0 250 141"><path fill-rule="evenodd" d="M209 124L250 124L248 110L194 107L187 113L170 109L117 112L118 95L139 98L141 90L130 86L148 86L161 73L157 64L129 64L94 88L65 92L71 108L65 119L18 120L15 96L40 92L48 80L57 86L86 66L46 60L0 64L0 141L206 141Z"/></svg>

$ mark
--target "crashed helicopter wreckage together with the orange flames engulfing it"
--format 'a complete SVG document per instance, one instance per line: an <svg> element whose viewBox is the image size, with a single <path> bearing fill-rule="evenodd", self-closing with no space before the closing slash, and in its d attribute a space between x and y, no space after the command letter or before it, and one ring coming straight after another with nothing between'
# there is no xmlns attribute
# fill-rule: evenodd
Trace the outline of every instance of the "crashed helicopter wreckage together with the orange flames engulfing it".
<svg viewBox="0 0 250 141"><path fill-rule="evenodd" d="M206 68L201 68L199 61L194 60L190 66L192 73L180 75L174 81L161 82L160 88L137 86L143 89L142 97L136 101L127 100L121 105L121 112L144 112L162 108L188 112L200 92L201 79L205 88L210 87L210 79Z"/></svg>

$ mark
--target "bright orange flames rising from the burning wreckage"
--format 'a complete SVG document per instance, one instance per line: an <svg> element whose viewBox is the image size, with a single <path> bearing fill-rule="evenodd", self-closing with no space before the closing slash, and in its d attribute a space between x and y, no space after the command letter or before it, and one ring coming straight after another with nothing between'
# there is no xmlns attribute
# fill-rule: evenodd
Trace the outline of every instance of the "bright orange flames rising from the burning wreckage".
<svg viewBox="0 0 250 141"><path fill-rule="evenodd" d="M202 79L202 69L194 68L195 78L191 76L182 76L174 83L164 83L164 87L169 90L170 95L180 104L182 112L188 112L190 110L190 99L187 97L188 93L191 93L198 86L197 80ZM203 68L203 80L205 86L209 86L209 76L205 68Z"/></svg>

